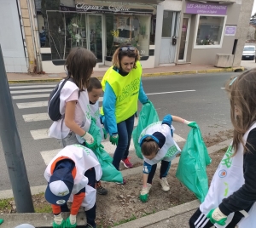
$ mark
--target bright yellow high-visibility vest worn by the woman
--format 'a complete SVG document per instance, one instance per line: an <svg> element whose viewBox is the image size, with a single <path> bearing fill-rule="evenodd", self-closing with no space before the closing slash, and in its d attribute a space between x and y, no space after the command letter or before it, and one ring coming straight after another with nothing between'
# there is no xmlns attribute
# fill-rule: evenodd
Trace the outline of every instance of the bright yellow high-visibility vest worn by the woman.
<svg viewBox="0 0 256 228"><path fill-rule="evenodd" d="M137 68L132 69L125 77L110 67L102 79L102 89L105 91L106 82L111 86L116 96L115 117L116 123L125 121L137 111L137 100L139 95L143 68L137 61ZM104 98L108 99L108 98ZM102 106L101 114L104 115Z"/></svg>

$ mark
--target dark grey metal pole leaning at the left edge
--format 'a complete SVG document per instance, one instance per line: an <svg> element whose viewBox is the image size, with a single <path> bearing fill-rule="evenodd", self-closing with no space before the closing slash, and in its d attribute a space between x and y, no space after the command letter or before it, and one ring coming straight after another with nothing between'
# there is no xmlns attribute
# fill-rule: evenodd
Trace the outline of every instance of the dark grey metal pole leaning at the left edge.
<svg viewBox="0 0 256 228"><path fill-rule="evenodd" d="M32 213L34 207L17 130L15 111L9 92L9 83L3 63L0 45L0 137L8 168L9 180L15 197L18 213Z"/></svg>

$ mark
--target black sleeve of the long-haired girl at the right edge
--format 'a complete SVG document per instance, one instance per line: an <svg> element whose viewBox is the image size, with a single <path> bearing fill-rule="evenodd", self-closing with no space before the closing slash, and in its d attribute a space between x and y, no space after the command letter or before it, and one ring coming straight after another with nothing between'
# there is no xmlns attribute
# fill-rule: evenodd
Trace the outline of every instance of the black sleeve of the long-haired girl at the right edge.
<svg viewBox="0 0 256 228"><path fill-rule="evenodd" d="M246 147L248 150L243 161L245 183L219 204L218 208L225 215L244 210L256 201L256 129L249 133Z"/></svg>

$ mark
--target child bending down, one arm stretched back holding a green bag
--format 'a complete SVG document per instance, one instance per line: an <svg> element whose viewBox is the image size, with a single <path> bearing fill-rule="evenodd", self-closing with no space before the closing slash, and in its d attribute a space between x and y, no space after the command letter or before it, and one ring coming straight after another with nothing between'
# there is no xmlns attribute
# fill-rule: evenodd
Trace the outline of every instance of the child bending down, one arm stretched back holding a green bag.
<svg viewBox="0 0 256 228"><path fill-rule="evenodd" d="M176 157L180 149L176 142L172 140L173 129L172 120L179 123L189 124L191 122L180 117L166 115L162 123L152 123L145 128L139 137L139 143L142 148L143 163L143 190L140 193L142 202L148 200L148 193L152 186L152 180L157 167L160 167L160 185L163 191L170 191L170 186L166 176L171 167L171 161Z"/></svg>

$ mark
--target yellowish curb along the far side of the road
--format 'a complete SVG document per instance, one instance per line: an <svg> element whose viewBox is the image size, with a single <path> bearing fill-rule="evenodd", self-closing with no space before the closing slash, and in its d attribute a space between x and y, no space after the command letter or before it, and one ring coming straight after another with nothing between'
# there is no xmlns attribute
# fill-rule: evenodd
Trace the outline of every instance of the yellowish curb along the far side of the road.
<svg viewBox="0 0 256 228"><path fill-rule="evenodd" d="M229 68L218 68L208 70L196 70L196 71L167 71L167 72L156 72L156 73L143 73L143 77L161 77L161 76L173 76L173 75L184 75L184 74L201 74L201 73L217 73L217 72L236 72L245 71L243 66L240 67L229 67ZM103 76L96 77L102 80ZM8 80L9 84L14 83L59 83L62 78L48 78L48 79L23 79L23 80Z"/></svg>

